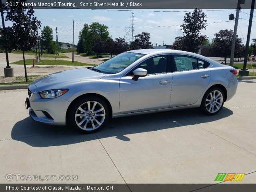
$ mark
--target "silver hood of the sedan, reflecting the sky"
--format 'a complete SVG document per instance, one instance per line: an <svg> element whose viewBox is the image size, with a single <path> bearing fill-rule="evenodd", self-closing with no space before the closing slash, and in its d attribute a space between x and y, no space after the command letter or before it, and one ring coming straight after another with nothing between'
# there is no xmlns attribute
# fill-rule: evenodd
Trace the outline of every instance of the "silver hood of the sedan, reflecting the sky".
<svg viewBox="0 0 256 192"><path fill-rule="evenodd" d="M72 70L61 71L44 76L31 84L34 84L39 90L50 90L68 88L68 85L81 82L98 80L106 74L92 71L88 68L77 68ZM32 85L30 86L32 88ZM33 92L33 90L31 90Z"/></svg>

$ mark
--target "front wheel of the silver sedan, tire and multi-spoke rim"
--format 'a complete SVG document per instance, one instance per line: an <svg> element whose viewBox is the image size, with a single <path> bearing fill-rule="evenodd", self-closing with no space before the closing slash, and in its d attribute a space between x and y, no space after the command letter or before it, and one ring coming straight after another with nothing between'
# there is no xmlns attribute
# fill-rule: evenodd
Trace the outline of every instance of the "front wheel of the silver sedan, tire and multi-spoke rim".
<svg viewBox="0 0 256 192"><path fill-rule="evenodd" d="M88 96L70 106L67 120L72 128L88 134L100 130L108 117L109 109L106 102L102 98Z"/></svg>

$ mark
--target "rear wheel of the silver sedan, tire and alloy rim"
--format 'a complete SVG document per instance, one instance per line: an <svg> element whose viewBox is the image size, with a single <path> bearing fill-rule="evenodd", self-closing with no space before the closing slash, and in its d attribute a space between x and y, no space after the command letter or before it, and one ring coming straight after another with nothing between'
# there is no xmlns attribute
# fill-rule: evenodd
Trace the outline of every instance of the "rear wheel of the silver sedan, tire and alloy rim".
<svg viewBox="0 0 256 192"><path fill-rule="evenodd" d="M212 87L206 91L200 109L206 115L215 115L222 109L225 95L221 88Z"/></svg>

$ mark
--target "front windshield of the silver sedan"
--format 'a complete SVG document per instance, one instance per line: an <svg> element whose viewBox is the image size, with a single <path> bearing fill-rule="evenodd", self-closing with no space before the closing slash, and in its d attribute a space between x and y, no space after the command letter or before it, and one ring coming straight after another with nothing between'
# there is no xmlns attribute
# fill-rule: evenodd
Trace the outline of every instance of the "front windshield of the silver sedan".
<svg viewBox="0 0 256 192"><path fill-rule="evenodd" d="M92 67L91 70L106 74L115 74L124 70L144 55L145 54L124 52L103 62L102 64L99 64L98 66Z"/></svg>

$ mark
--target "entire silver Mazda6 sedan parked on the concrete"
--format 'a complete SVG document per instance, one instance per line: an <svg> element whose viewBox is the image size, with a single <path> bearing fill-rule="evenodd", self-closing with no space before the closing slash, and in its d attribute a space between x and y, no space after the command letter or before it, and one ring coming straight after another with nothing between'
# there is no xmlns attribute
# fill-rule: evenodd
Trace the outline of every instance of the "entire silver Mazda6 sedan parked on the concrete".
<svg viewBox="0 0 256 192"><path fill-rule="evenodd" d="M28 87L30 116L91 133L108 118L182 108L218 113L236 93L236 70L204 56L145 49L90 68L50 74Z"/></svg>

